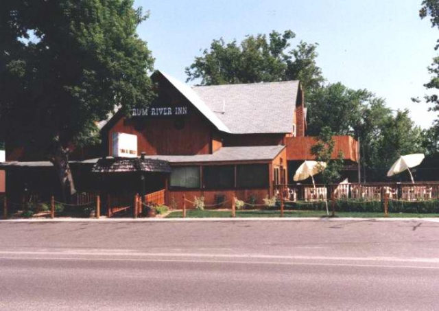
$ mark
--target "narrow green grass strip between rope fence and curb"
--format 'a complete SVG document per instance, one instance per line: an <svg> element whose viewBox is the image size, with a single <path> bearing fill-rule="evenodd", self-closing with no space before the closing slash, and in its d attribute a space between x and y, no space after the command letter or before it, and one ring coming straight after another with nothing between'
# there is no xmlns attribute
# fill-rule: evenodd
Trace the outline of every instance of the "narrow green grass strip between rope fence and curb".
<svg viewBox="0 0 439 311"><path fill-rule="evenodd" d="M331 212L330 212L331 213ZM280 217L280 211L270 210L247 210L236 211L238 218L246 217ZM285 211L285 217L328 217L326 211ZM213 211L213 210L189 210L187 218L228 218L230 211ZM356 213L356 212L336 212L335 217L357 217L357 218L381 218L383 213ZM390 218L427 218L439 217L439 214L415 214L415 213L390 213ZM182 218L181 211L171 211L166 218Z"/></svg>

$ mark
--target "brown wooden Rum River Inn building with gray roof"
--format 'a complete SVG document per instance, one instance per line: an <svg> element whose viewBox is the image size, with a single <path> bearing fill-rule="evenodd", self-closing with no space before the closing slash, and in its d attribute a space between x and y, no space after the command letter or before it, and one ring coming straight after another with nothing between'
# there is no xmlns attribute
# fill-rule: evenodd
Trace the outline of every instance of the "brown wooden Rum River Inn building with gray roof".
<svg viewBox="0 0 439 311"><path fill-rule="evenodd" d="M73 152L80 191L163 190L165 203L178 207L182 194L190 200L204 196L206 204L219 197L230 202L233 194L260 203L274 194L274 185L292 183L302 161L313 159L316 138L305 136L307 108L299 81L191 87L161 71L152 80L157 97L150 107L134 109L131 117L115 113L99 124L99 148ZM334 158L342 151L344 177L356 181L357 141L334 139ZM0 164L6 192L54 191L47 187L56 187L51 163L26 161L16 148L6 153Z"/></svg>

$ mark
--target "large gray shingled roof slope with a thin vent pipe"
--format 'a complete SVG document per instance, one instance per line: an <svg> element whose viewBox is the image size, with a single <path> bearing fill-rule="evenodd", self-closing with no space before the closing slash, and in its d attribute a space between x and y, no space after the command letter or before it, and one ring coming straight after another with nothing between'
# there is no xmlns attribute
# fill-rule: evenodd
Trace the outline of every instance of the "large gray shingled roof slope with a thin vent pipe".
<svg viewBox="0 0 439 311"><path fill-rule="evenodd" d="M192 89L233 134L292 133L298 86L285 81Z"/></svg>

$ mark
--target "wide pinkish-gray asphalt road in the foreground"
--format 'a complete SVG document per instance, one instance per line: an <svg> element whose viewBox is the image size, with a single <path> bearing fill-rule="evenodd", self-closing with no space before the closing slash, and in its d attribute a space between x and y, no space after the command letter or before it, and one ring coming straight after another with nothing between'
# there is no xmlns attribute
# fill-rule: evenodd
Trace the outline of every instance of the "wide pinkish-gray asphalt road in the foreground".
<svg viewBox="0 0 439 311"><path fill-rule="evenodd" d="M0 222L0 310L437 310L439 222Z"/></svg>

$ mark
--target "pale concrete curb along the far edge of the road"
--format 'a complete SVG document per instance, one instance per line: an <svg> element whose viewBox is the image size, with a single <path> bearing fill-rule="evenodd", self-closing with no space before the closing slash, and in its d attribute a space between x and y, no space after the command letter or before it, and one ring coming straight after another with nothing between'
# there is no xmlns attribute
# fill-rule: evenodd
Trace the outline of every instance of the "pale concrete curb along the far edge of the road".
<svg viewBox="0 0 439 311"><path fill-rule="evenodd" d="M3 222L254 222L254 221L281 221L281 222L340 222L340 221L428 221L439 222L439 218L319 218L319 217L248 217L248 218L55 218L55 219L8 219Z"/></svg>

